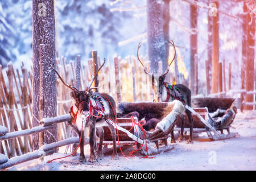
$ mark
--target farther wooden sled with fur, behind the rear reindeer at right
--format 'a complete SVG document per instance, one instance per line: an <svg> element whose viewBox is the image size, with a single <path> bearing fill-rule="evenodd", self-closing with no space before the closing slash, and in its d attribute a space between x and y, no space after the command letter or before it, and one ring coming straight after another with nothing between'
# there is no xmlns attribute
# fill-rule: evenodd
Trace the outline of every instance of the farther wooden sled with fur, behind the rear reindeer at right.
<svg viewBox="0 0 256 182"><path fill-rule="evenodd" d="M238 133L230 133L230 127L236 116L236 111L232 114L233 107L236 109L240 109L241 100L240 98L193 98L192 99L192 118L193 118L193 133L203 133L207 132L207 135L210 140L221 140L236 137ZM216 123L217 119L213 118L210 113L214 113L218 110L222 111L221 117L219 117L219 121L223 122L219 126L214 126L214 122ZM189 120L186 114L184 115L184 131L189 132ZM200 116L201 117L200 117ZM206 123L205 123L206 122ZM224 123L225 122L225 123ZM213 126L212 129L209 129L207 126L209 123ZM180 131L181 121L177 122L177 127L175 127L175 131ZM223 130L226 130L228 134L224 134ZM216 131L221 131L221 134L217 134ZM214 134L216 134L214 136Z"/></svg>

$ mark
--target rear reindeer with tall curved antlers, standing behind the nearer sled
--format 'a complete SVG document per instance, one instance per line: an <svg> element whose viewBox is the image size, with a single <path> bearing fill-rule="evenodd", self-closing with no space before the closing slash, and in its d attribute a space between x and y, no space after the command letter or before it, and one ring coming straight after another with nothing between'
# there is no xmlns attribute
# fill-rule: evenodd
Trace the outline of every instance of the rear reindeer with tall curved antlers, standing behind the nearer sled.
<svg viewBox="0 0 256 182"><path fill-rule="evenodd" d="M182 85L182 84L171 85L168 82L164 81L167 73L169 72L169 68L176 56L176 48L175 48L174 42L172 41L170 43L174 47L174 52L175 52L174 58L172 59L170 64L168 64L168 68L166 69L166 71L159 77L148 72L146 67L144 67L141 59L139 59L139 48L141 47L141 42L139 43L139 46L137 49L137 57L138 57L139 62L143 66L144 72L147 75L152 77L152 90L153 90L153 95L154 95L154 100L153 100L154 102L155 101L156 102L159 102L159 101L160 102L171 102L173 100L180 100L181 102L183 102L183 104L186 104L191 107L191 90L189 88L187 88L187 86ZM189 122L190 122L190 135L189 135L188 143L193 143L193 138L192 138L193 119L192 119L191 111L185 109L185 113L187 114ZM181 124L180 137L178 138L179 141L182 141L184 138L184 135L183 135L184 117L181 116L181 118L182 118L181 119L182 124ZM171 142L174 143L175 142L174 131L172 131L171 135L172 135Z"/></svg>

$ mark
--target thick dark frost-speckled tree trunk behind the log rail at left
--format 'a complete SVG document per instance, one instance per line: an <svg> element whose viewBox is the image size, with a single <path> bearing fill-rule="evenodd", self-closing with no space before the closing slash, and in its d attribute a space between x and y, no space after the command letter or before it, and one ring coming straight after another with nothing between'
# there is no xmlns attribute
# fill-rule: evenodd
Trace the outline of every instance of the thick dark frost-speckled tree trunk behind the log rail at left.
<svg viewBox="0 0 256 182"><path fill-rule="evenodd" d="M44 115L47 117L56 116L56 75L51 71L51 66L55 64L55 13L54 1L32 1L32 61L33 61L33 126L39 125L39 45L45 44L43 54L44 60ZM39 148L38 134L33 135L33 148ZM52 143L57 140L56 129L44 133L44 143Z"/></svg>

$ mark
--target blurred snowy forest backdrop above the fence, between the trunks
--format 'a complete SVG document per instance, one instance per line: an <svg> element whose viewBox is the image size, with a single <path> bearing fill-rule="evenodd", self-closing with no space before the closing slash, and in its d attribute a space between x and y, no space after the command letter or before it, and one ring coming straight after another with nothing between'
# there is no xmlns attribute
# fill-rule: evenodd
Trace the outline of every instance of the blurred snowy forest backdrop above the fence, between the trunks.
<svg viewBox="0 0 256 182"><path fill-rule="evenodd" d="M211 51L208 43L208 0L197 1L197 27L191 28L189 13L193 1L170 1L170 40L178 47L187 71L190 69L190 36L197 33L199 82L205 82L205 60ZM76 1L57 0L56 53L58 57L82 60L91 57L96 49L101 57L117 53L122 58L136 55L139 41L146 43L146 0L143 1ZM243 1L220 1L219 4L220 61L232 62L232 87L241 88ZM28 65L32 61L32 1L0 2L0 64L9 61ZM235 17L235 18L234 18ZM141 54L146 54L146 46ZM254 49L255 51L255 49ZM255 62L255 61L254 61ZM202 71L203 70L203 71ZM199 84L200 85L200 84ZM200 90L199 90L200 93Z"/></svg>

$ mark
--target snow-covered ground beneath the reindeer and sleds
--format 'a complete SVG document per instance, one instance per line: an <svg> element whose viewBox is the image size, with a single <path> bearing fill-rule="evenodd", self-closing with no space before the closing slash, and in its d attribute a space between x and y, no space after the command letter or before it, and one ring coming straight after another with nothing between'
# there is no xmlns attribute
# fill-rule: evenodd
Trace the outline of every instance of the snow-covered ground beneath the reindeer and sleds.
<svg viewBox="0 0 256 182"><path fill-rule="evenodd" d="M94 164L78 162L79 155L46 163L67 155L62 152L65 147L61 147L59 153L46 156L43 162L35 159L7 170L256 170L256 111L237 113L230 131L239 135L210 142L206 134L201 134L193 144L177 143L174 150L155 155L153 159L141 159L140 154L125 158L119 153L119 159L112 160L111 155L105 155ZM89 157L89 145L85 146L85 155Z"/></svg>

